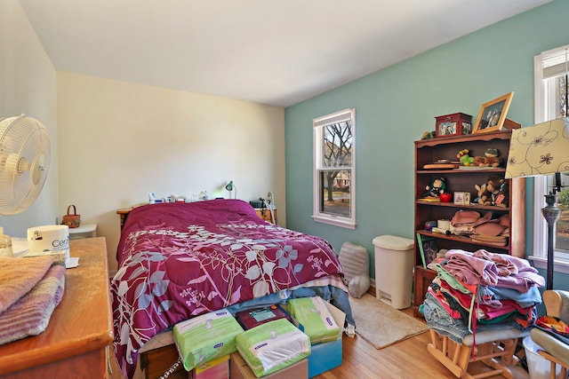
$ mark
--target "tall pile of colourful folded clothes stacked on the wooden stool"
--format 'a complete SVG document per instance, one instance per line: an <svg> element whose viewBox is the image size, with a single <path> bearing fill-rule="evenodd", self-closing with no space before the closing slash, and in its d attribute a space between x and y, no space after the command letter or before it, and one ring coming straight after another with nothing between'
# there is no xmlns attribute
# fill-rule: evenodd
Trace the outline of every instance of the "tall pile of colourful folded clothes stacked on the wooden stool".
<svg viewBox="0 0 569 379"><path fill-rule="evenodd" d="M462 343L477 331L533 327L545 280L525 259L451 249L436 267L420 311L439 335Z"/></svg>

